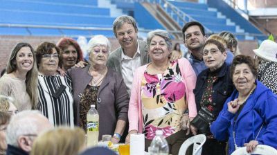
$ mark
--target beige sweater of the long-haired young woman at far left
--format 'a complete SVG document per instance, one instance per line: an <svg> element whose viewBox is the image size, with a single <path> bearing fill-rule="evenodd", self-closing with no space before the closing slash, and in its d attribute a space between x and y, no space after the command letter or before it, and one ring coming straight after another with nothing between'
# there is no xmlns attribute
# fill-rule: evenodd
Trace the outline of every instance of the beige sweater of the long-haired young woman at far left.
<svg viewBox="0 0 277 155"><path fill-rule="evenodd" d="M30 96L26 91L25 80L14 78L11 74L4 74L0 78L0 94L15 99L15 107L19 111L32 109Z"/></svg>

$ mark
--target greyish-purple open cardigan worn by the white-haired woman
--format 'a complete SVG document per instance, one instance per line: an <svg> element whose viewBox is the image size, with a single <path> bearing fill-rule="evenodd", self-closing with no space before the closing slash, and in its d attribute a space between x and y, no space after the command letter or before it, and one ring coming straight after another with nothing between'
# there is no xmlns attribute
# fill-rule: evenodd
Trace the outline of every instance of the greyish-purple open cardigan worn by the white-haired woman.
<svg viewBox="0 0 277 155"><path fill-rule="evenodd" d="M73 68L68 71L72 80L74 123L77 126L80 126L80 98L92 79L92 76L89 75L89 66ZM96 105L99 113L99 139L103 134L114 134L118 119L127 122L128 98L123 78L115 71L108 69L97 95L97 99L100 101Z"/></svg>

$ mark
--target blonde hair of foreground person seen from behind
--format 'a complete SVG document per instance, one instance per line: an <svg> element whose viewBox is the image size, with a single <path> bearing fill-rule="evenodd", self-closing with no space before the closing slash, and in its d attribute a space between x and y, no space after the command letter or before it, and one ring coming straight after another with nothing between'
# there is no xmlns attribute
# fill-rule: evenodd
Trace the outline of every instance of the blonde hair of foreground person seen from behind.
<svg viewBox="0 0 277 155"><path fill-rule="evenodd" d="M84 130L80 127L58 127L39 135L31 155L75 155L85 146Z"/></svg>

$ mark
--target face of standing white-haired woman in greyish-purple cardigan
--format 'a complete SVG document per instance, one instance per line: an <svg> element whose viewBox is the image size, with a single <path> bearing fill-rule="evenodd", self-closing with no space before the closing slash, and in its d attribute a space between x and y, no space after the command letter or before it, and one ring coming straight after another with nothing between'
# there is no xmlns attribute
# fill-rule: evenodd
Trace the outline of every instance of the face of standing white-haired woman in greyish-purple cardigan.
<svg viewBox="0 0 277 155"><path fill-rule="evenodd" d="M89 61L91 65L103 65L106 66L109 51L107 46L100 45L94 46L89 53Z"/></svg>

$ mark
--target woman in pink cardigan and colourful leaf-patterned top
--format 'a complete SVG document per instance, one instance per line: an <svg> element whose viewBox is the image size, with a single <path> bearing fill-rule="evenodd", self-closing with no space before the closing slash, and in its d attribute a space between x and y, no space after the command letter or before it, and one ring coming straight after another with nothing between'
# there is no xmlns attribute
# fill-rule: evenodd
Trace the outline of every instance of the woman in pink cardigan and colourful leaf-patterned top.
<svg viewBox="0 0 277 155"><path fill-rule="evenodd" d="M178 154L181 144L190 136L185 111L192 120L197 115L195 105L196 75L188 60L181 58L170 62L172 41L166 30L148 33L148 48L152 63L136 69L129 101L129 135L145 134L145 151L155 136L162 130L168 141L170 154ZM188 121L189 123L189 121ZM190 127L193 133L196 131ZM187 134L186 134L187 132Z"/></svg>

